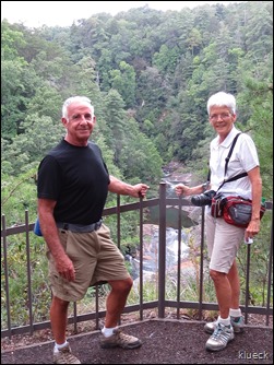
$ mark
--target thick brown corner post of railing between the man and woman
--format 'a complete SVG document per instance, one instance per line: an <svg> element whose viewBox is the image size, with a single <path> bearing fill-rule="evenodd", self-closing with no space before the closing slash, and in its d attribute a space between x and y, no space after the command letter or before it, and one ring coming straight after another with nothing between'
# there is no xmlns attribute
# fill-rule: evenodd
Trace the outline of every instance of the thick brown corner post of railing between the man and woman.
<svg viewBox="0 0 274 365"><path fill-rule="evenodd" d="M159 184L158 317L165 317L166 294L166 182Z"/></svg>

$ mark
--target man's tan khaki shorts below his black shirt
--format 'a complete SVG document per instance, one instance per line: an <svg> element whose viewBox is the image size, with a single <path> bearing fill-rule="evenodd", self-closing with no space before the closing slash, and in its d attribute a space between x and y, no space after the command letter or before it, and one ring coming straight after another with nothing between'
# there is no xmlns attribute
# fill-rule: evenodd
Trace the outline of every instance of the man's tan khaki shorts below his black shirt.
<svg viewBox="0 0 274 365"><path fill-rule="evenodd" d="M87 289L97 282L124 280L130 274L124 258L111 242L109 228L102 224L98 231L74 233L59 229L61 244L74 264L75 281L69 282L56 270L49 251L49 280L52 294L63 301L76 302L84 297Z"/></svg>

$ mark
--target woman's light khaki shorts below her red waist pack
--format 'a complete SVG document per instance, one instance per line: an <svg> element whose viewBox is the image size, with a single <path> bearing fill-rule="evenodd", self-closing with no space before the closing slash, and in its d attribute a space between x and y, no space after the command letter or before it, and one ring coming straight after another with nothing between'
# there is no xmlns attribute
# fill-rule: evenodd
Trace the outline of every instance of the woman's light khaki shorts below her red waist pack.
<svg viewBox="0 0 274 365"><path fill-rule="evenodd" d="M205 214L206 245L210 269L228 273L243 242L245 229L226 223L223 217Z"/></svg>

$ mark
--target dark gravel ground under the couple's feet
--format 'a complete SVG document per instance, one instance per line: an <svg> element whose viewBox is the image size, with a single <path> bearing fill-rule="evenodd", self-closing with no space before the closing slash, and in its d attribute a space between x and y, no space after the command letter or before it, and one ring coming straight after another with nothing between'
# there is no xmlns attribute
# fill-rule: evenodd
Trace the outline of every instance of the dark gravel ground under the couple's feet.
<svg viewBox="0 0 274 365"><path fill-rule="evenodd" d="M207 352L204 322L148 319L122 325L143 341L136 350L100 349L99 331L69 338L82 364L273 364L273 328L246 326L219 352ZM1 364L52 364L52 341L1 351Z"/></svg>

